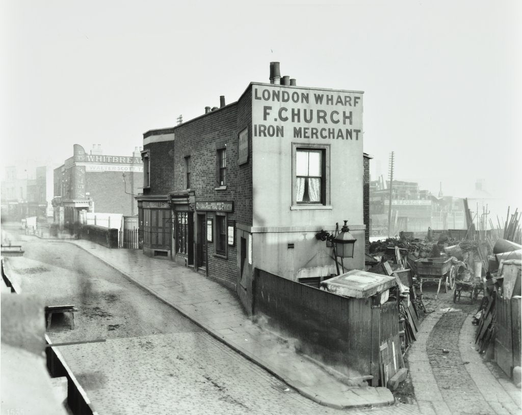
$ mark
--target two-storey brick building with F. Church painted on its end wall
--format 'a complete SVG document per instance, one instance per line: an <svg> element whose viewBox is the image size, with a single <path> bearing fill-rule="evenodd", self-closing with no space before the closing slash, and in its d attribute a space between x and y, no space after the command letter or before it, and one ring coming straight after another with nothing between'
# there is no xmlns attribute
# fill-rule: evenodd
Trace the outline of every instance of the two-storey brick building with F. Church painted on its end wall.
<svg viewBox="0 0 522 415"><path fill-rule="evenodd" d="M363 269L370 157L362 96L276 77L251 82L236 102L221 97L219 108L145 132L144 253L192 266L244 299L256 267L293 280L335 273L331 248L315 235L348 219L358 242L344 265Z"/></svg>

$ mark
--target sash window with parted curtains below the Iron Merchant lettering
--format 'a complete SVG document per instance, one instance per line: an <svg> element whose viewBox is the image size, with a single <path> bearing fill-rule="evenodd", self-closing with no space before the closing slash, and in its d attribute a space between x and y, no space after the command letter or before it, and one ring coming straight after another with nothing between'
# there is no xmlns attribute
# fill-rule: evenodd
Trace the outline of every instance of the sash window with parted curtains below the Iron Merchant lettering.
<svg viewBox="0 0 522 415"><path fill-rule="evenodd" d="M295 152L295 201L324 204L324 150Z"/></svg>

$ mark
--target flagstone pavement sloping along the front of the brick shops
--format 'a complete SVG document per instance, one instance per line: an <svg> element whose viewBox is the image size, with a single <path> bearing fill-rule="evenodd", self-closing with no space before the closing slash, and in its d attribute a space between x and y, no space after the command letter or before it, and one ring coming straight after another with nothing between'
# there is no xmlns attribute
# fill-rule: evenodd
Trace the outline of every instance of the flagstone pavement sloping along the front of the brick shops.
<svg viewBox="0 0 522 415"><path fill-rule="evenodd" d="M235 293L191 268L151 259L140 251L111 250L85 240L72 243L111 265L232 349L322 405L348 408L393 403L393 396L386 388L349 388L337 381L296 353L281 338L253 324ZM417 412L416 406L401 406L408 413ZM393 411L400 413L402 409L394 406Z"/></svg>

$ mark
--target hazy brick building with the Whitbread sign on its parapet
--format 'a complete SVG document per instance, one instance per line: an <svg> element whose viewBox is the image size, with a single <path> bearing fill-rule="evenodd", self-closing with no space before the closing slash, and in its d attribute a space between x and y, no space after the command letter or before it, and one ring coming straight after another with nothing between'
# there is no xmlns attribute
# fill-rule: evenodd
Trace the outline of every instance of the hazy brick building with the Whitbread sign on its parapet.
<svg viewBox="0 0 522 415"><path fill-rule="evenodd" d="M103 155L100 145L88 154L74 145L74 154L54 169L54 221L71 228L80 212L138 214L134 199L143 185L143 161L138 148L132 156Z"/></svg>

